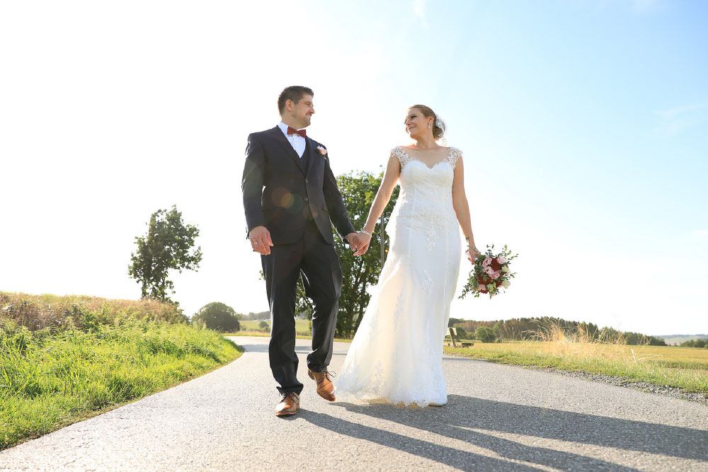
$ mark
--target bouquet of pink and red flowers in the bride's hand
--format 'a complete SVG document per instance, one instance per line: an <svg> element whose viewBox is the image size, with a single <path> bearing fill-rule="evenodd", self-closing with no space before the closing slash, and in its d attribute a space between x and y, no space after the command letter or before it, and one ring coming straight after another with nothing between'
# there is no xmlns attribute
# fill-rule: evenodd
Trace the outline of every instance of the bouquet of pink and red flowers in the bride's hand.
<svg viewBox="0 0 708 472"><path fill-rule="evenodd" d="M498 254L493 253L494 245L487 245L486 253L482 254L474 262L472 271L469 272L469 280L464 284L462 295L459 298L464 298L465 295L472 292L474 297L479 297L480 294L489 294L489 298L499 293L499 289L506 289L511 284L511 279L516 272L510 272L510 261L518 256L511 255L511 251L504 245L503 251ZM506 290L505 290L506 291Z"/></svg>

